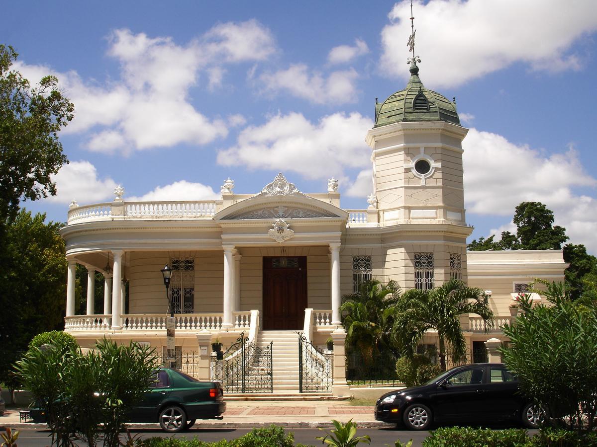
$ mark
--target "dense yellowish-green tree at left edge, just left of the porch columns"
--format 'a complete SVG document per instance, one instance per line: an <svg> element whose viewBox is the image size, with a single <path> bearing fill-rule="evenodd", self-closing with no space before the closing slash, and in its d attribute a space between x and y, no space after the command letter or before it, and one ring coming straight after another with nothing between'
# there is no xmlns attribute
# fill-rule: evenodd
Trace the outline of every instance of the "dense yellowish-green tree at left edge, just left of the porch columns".
<svg viewBox="0 0 597 447"><path fill-rule="evenodd" d="M61 224L22 210L7 227L0 274L0 381L36 334L64 328L67 262Z"/></svg>

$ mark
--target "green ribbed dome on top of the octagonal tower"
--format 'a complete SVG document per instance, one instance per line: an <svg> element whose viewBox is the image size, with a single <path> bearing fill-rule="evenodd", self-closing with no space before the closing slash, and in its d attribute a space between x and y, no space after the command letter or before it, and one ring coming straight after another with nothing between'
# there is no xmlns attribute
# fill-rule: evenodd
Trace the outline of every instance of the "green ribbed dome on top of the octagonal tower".
<svg viewBox="0 0 597 447"><path fill-rule="evenodd" d="M438 92L426 89L418 77L418 67L410 67L407 88L390 95L375 106L375 126L414 121L445 121L460 126L456 104Z"/></svg>

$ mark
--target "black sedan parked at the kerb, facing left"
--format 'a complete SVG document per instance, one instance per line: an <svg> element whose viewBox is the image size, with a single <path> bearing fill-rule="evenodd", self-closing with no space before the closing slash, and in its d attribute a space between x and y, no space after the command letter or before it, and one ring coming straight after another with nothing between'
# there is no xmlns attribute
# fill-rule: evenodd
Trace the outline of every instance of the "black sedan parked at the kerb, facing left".
<svg viewBox="0 0 597 447"><path fill-rule="evenodd" d="M435 422L488 423L522 421L536 429L544 414L525 399L518 378L503 364L475 364L453 368L421 386L386 393L378 399L378 421L427 430Z"/></svg>

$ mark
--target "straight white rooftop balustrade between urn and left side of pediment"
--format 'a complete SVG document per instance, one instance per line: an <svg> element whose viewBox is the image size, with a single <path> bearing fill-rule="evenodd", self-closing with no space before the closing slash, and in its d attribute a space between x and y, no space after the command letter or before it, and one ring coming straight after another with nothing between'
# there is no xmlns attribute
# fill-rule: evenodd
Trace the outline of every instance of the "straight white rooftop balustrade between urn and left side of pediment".
<svg viewBox="0 0 597 447"><path fill-rule="evenodd" d="M130 218L206 218L216 213L216 201L173 201L125 203Z"/></svg>

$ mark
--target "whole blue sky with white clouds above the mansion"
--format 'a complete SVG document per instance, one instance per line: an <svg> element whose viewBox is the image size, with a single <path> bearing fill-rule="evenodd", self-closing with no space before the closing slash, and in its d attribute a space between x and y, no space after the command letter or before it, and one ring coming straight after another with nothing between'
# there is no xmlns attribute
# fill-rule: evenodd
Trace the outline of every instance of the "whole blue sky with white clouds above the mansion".
<svg viewBox="0 0 597 447"><path fill-rule="evenodd" d="M597 253L597 14L590 0L415 2L427 88L456 97L473 237L546 203ZM407 82L410 2L7 2L0 42L30 80L56 74L75 103L59 194L26 203L256 193L278 172L306 193L340 179L371 193L375 98Z"/></svg>

